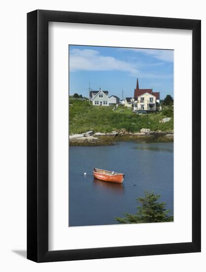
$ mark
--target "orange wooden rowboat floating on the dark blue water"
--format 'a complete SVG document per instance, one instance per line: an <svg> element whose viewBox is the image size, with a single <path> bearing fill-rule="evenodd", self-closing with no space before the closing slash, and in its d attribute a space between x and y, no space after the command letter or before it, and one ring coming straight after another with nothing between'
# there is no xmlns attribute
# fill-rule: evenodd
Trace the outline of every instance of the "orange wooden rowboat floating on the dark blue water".
<svg viewBox="0 0 206 272"><path fill-rule="evenodd" d="M100 181L123 183L124 174L93 168L94 178Z"/></svg>

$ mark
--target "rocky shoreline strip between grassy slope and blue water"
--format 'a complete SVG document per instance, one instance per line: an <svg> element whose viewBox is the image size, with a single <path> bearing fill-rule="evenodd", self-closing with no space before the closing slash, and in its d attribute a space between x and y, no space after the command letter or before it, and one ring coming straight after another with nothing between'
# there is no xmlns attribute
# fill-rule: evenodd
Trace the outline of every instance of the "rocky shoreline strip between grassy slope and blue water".
<svg viewBox="0 0 206 272"><path fill-rule="evenodd" d="M137 142L173 142L173 131L150 131L150 129L141 129L140 132L131 133L126 131L112 131L110 133L101 133L87 131L82 134L73 134L69 136L70 146L102 146L114 145L117 141L137 141Z"/></svg>

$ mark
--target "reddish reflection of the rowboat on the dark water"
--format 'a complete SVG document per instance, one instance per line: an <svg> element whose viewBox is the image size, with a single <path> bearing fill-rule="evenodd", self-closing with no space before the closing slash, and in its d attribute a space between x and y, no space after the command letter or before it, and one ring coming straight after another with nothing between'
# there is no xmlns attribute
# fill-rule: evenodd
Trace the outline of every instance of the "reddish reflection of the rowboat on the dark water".
<svg viewBox="0 0 206 272"><path fill-rule="evenodd" d="M94 186L98 186L100 189L105 191L111 191L112 193L124 194L123 183L106 182L93 179Z"/></svg>

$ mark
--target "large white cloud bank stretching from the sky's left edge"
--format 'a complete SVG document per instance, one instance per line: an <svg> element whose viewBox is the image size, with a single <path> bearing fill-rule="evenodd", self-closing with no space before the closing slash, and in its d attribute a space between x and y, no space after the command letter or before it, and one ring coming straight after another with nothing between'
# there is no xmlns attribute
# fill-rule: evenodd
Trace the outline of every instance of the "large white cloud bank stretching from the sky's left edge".
<svg viewBox="0 0 206 272"><path fill-rule="evenodd" d="M134 49L136 50L136 49ZM141 49L140 49L141 50ZM141 72L144 66L137 62L129 63L112 56L103 56L93 49L70 49L70 71L122 71L139 78L167 78L170 75L155 75Z"/></svg>

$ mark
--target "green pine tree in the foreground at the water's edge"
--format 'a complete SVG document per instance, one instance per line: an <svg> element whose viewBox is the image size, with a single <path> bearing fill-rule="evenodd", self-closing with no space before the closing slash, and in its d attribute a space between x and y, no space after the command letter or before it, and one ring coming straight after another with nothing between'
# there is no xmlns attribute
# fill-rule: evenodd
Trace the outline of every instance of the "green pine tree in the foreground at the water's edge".
<svg viewBox="0 0 206 272"><path fill-rule="evenodd" d="M138 197L137 212L135 214L124 214L125 218L117 217L121 224L134 223L155 223L155 222L172 222L173 216L167 216L169 210L165 209L165 202L157 202L160 195L155 195L154 192L145 191L145 197Z"/></svg>

